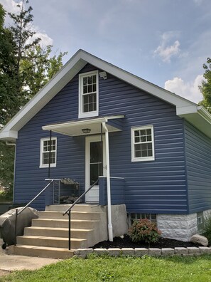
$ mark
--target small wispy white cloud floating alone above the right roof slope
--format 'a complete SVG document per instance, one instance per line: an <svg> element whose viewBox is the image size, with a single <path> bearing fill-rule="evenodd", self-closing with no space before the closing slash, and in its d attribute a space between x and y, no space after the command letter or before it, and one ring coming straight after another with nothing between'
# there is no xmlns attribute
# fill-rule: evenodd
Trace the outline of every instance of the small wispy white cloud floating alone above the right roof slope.
<svg viewBox="0 0 211 282"><path fill-rule="evenodd" d="M180 42L175 40L171 42L173 38L178 37L178 31L168 31L161 36L161 45L154 51L155 56L162 58L163 62L170 63L173 56L180 56Z"/></svg>

